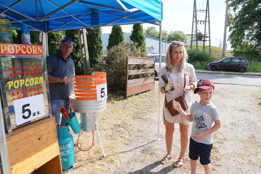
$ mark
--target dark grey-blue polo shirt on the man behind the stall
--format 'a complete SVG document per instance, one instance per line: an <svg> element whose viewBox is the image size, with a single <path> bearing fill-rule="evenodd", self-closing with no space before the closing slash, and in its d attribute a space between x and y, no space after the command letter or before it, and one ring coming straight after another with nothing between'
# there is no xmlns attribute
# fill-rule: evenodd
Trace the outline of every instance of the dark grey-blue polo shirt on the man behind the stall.
<svg viewBox="0 0 261 174"><path fill-rule="evenodd" d="M61 55L60 50L53 55L46 58L47 73L53 77L63 78L65 76L71 79L71 83L65 85L65 83L49 83L50 99L68 99L72 93L74 82L74 61L71 56L68 56L65 61Z"/></svg>

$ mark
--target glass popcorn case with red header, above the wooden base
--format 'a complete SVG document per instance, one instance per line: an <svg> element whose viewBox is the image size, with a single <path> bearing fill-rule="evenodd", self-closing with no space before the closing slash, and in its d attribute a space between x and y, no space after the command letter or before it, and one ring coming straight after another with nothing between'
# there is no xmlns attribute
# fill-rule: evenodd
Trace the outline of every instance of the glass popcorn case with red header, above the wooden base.
<svg viewBox="0 0 261 174"><path fill-rule="evenodd" d="M51 117L44 55L41 45L0 43L0 98L6 134Z"/></svg>

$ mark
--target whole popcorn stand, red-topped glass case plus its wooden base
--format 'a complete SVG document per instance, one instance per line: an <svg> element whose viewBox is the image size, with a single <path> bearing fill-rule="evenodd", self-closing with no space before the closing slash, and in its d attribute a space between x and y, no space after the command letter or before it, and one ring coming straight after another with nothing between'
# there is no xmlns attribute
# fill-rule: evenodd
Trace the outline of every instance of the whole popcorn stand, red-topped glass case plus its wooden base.
<svg viewBox="0 0 261 174"><path fill-rule="evenodd" d="M43 47L0 43L0 82L6 173L62 173Z"/></svg>

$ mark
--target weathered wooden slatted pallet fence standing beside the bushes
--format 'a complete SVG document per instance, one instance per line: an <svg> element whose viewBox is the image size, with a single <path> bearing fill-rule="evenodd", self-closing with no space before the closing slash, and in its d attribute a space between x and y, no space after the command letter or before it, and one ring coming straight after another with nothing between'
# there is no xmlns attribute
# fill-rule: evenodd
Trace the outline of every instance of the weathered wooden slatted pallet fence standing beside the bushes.
<svg viewBox="0 0 261 174"><path fill-rule="evenodd" d="M155 59L145 57L127 57L127 77L126 77L126 96L142 93L150 89L154 89L155 79ZM140 70L129 70L129 65L134 64L153 64L153 68L140 69ZM151 74L153 77L139 78L128 80L131 75L139 74Z"/></svg>

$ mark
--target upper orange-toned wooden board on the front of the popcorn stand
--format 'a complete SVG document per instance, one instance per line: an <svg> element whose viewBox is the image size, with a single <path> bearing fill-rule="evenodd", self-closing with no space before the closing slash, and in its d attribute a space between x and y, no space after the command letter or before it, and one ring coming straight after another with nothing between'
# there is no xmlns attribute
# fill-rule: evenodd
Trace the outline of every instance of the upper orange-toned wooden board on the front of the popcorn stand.
<svg viewBox="0 0 261 174"><path fill-rule="evenodd" d="M45 149L53 143L57 144L56 150L59 151L55 119L53 117L49 118L29 129L23 130L21 128L20 131L7 137L6 143L10 166L25 159L33 158L36 152ZM55 151L53 153L51 158L56 156Z"/></svg>

